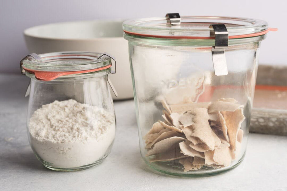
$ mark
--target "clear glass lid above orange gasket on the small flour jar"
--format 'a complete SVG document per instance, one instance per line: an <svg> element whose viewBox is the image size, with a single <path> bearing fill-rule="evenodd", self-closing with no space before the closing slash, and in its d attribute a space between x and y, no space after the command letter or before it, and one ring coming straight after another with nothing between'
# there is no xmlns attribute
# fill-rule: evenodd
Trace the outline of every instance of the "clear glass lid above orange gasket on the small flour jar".
<svg viewBox="0 0 287 191"><path fill-rule="evenodd" d="M27 57L23 67L33 71L67 72L101 68L112 63L111 58L101 53L64 51L39 54L40 60ZM100 58L99 58L100 57Z"/></svg>

